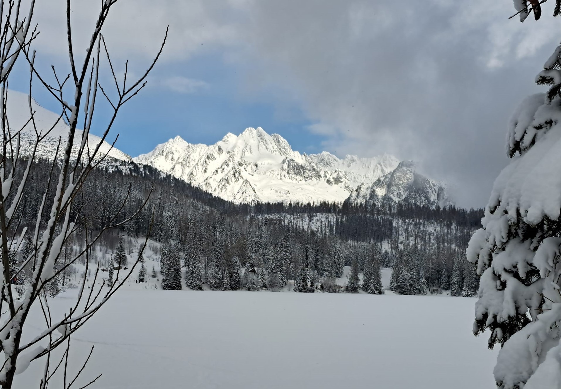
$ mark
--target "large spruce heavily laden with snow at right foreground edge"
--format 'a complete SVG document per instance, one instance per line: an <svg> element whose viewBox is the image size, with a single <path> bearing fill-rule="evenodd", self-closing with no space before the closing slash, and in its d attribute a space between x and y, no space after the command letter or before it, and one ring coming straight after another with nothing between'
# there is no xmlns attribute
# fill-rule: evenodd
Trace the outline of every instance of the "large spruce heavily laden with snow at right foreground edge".
<svg viewBox="0 0 561 389"><path fill-rule="evenodd" d="M490 330L500 388L561 387L561 46L537 76L550 85L509 121L512 162L495 180L467 259L481 274L474 332Z"/></svg>

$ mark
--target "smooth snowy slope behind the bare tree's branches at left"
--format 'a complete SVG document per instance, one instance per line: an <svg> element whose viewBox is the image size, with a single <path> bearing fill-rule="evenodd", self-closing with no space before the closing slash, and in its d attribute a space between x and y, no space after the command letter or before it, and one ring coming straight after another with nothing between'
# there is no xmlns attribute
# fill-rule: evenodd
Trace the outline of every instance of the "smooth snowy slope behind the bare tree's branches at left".
<svg viewBox="0 0 561 389"><path fill-rule="evenodd" d="M31 116L29 113L28 98L29 96L25 93L10 90L8 91L8 102L6 104L8 122L12 134L16 131L19 131L23 127L23 130L21 131L20 150L24 155L30 154L32 146L35 143L36 139L34 127L31 122L29 122L29 118ZM31 107L35 112L34 120L37 130L41 131L43 134L46 134L47 131L49 131L51 127L53 127L53 125L57 123L59 115L41 107L37 102L35 102L35 100L31 100ZM80 145L81 137L82 131L77 131L74 140L74 147L72 149L72 152L75 156L77 156L77 150ZM45 137L45 139L39 143L36 152L37 157L53 159L56 153L59 138L62 140L61 147L63 147L66 140L68 139L68 125L63 120L59 120L58 123L49 132L49 134ZM101 138L99 138L99 136L90 134L90 150L93 151L96 145L99 144L100 140ZM107 152L109 152L109 157L116 158L121 161L132 161L129 155L121 152L121 150L118 150L116 148L111 149L111 145L104 141L99 148L98 155L105 155L105 153Z"/></svg>

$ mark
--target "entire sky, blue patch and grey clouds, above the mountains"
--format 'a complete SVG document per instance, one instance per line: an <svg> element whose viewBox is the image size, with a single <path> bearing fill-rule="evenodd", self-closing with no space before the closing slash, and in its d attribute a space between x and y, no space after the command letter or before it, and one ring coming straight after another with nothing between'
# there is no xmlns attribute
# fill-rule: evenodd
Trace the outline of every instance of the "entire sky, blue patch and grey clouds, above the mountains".
<svg viewBox="0 0 561 389"><path fill-rule="evenodd" d="M65 3L37 3L45 74L68 62ZM72 4L79 48L99 3ZM121 0L105 26L117 72L129 59L140 74L168 24L169 40L112 134L135 156L176 135L211 144L261 126L300 152L412 159L458 205L483 207L508 163L508 118L544 90L534 77L559 42L549 3L539 22L514 12L511 0ZM11 88L25 91L26 77Z"/></svg>

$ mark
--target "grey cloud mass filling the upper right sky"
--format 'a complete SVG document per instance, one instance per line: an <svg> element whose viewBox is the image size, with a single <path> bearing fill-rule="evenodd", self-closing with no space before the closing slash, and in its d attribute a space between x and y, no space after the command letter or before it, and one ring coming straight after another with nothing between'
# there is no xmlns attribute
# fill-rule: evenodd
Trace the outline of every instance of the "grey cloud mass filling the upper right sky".
<svg viewBox="0 0 561 389"><path fill-rule="evenodd" d="M63 2L48 3L45 50L62 53L53 4ZM246 69L246 92L276 90L279 106L300 104L314 123L308 130L329 136L328 151L415 159L466 207L485 205L508 162L508 117L540 90L534 76L561 39L549 7L521 24L507 19L510 0L137 0L134 15L126 8L116 7L108 26L119 54L152 54L169 23L165 61L222 50Z"/></svg>

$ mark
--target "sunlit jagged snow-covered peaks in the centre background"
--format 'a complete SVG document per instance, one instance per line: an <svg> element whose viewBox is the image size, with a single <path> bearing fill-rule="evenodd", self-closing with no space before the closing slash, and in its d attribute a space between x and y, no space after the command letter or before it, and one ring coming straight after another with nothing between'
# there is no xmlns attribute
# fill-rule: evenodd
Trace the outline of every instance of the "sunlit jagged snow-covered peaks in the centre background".
<svg viewBox="0 0 561 389"><path fill-rule="evenodd" d="M395 202L413 194L427 205L440 199L438 184L413 174L412 168L407 171L392 155L339 159L327 152L300 154L282 136L269 135L261 127L238 136L228 133L210 146L190 144L177 136L134 161L236 203L343 202L349 196L353 202L364 202L370 198L366 189L377 182L378 191L383 189ZM384 186L384 180L390 184Z"/></svg>

